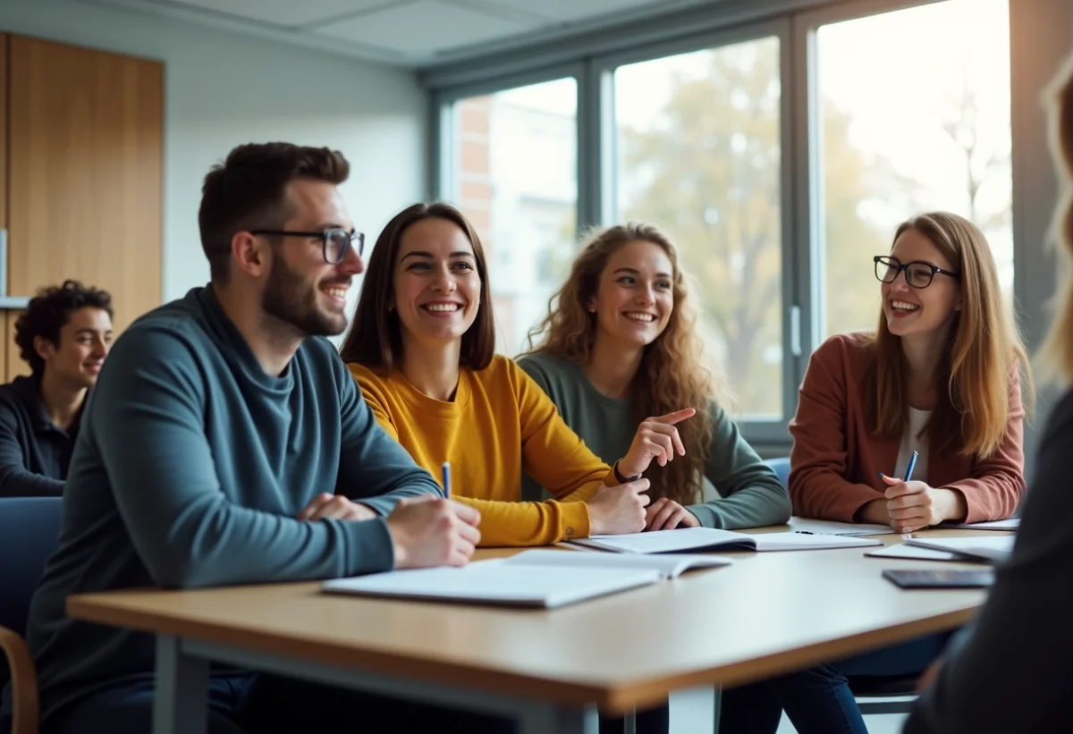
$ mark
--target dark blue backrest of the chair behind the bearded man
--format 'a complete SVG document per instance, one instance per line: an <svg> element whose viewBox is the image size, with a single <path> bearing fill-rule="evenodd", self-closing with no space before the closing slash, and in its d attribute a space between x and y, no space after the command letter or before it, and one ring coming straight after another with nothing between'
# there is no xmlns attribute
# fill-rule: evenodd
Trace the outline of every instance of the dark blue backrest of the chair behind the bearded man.
<svg viewBox="0 0 1073 734"><path fill-rule="evenodd" d="M59 497L0 498L0 626L26 635L33 589L59 546ZM0 655L0 689L8 684Z"/></svg>

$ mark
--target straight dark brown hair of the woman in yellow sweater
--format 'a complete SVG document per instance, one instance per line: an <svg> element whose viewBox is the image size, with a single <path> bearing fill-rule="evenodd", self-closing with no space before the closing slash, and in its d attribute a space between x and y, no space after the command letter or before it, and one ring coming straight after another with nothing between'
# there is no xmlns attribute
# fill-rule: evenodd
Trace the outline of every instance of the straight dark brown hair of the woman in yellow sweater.
<svg viewBox="0 0 1073 734"><path fill-rule="evenodd" d="M476 320L462 335L459 364L470 369L484 369L491 363L496 351L496 327L484 248L462 212L443 202L408 206L395 215L380 233L365 268L350 332L339 350L343 362L356 362L382 375L398 366L402 357L402 333L399 314L395 310L395 262L406 231L420 221L433 218L456 224L466 234L473 246L476 271L481 277L481 303Z"/></svg>

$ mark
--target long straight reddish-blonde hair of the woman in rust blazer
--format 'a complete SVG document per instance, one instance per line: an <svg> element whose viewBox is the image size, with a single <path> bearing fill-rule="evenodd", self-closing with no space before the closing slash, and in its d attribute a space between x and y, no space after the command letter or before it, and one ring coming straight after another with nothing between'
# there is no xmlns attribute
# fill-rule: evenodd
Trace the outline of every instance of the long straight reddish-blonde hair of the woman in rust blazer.
<svg viewBox="0 0 1073 734"><path fill-rule="evenodd" d="M955 312L936 380L938 401L927 431L941 452L990 456L1010 420L1010 380L1024 370L1024 393L1032 402L1032 375L1012 310L1002 303L998 269L983 233L967 219L934 211L903 222L927 237L960 274L961 309ZM906 411L909 365L901 339L891 334L880 310L863 386L866 415L876 434L900 437Z"/></svg>

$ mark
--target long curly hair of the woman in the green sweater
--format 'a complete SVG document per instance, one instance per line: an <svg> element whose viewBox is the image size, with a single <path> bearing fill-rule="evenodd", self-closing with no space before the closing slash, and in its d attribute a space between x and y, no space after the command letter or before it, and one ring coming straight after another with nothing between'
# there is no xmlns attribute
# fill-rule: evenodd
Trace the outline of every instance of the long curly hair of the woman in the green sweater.
<svg viewBox="0 0 1073 734"><path fill-rule="evenodd" d="M529 332L530 353L549 354L586 364L596 339L596 314L587 306L600 288L600 276L611 255L622 246L651 243L662 249L673 267L674 309L666 328L645 348L633 378L631 395L634 417L641 421L682 408L696 415L677 425L686 455L665 467L652 465L645 476L651 482L652 499L666 497L681 504L697 501L704 465L711 451L711 417L715 387L696 336L696 312L688 297L686 278L678 266L678 252L662 231L644 222L627 222L592 232L574 261L567 282L548 304L548 315ZM542 337L542 338L541 338ZM535 339L541 338L534 347ZM615 460L617 457L604 457Z"/></svg>

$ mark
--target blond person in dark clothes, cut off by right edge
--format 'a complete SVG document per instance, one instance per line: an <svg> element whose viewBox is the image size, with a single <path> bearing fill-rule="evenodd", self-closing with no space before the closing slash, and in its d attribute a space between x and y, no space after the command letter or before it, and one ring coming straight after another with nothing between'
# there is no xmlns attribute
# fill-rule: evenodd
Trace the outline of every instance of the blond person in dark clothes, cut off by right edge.
<svg viewBox="0 0 1073 734"><path fill-rule="evenodd" d="M1073 56L1052 86L1052 150L1062 182L1055 231L1068 267L1073 253ZM1062 270L1059 270L1062 271ZM935 682L906 722L905 734L1073 731L1073 280L1067 277L1044 342L1048 377L1065 394L1040 441L1010 560L995 572L987 603L951 644ZM956 649L954 649L956 648Z"/></svg>

